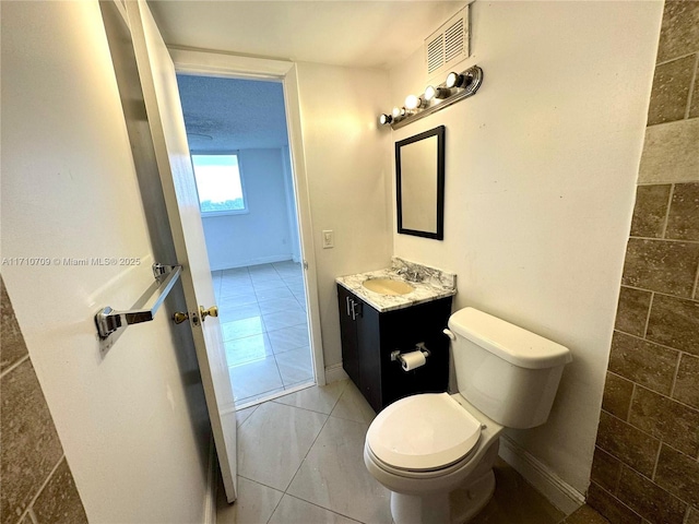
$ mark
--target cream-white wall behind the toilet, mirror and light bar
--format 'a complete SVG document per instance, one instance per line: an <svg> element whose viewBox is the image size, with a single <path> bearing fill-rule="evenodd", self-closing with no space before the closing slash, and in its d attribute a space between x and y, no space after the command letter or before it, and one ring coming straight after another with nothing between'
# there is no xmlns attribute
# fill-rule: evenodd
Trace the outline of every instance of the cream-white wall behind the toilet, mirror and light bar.
<svg viewBox="0 0 699 524"><path fill-rule="evenodd" d="M458 273L474 306L568 346L548 424L510 436L580 492L589 483L662 2L472 5L478 93L393 133L447 127L445 240L399 257ZM422 49L391 71L422 93ZM390 106L386 106L388 109Z"/></svg>

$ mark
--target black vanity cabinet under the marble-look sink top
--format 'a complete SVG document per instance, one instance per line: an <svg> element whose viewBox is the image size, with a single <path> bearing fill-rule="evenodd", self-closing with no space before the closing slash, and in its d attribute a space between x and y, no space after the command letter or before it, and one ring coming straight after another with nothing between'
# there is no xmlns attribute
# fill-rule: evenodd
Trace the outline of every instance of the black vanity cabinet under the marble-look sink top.
<svg viewBox="0 0 699 524"><path fill-rule="evenodd" d="M343 368L378 413L404 396L441 393L449 385L449 340L442 333L451 314L451 297L379 312L337 285ZM424 343L430 356L403 371L391 353L415 350Z"/></svg>

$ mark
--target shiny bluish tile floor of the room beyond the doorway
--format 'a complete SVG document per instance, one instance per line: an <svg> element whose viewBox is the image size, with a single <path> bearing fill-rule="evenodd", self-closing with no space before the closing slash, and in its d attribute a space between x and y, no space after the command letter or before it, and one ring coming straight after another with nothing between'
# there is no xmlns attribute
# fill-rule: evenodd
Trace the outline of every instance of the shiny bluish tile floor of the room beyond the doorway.
<svg viewBox="0 0 699 524"><path fill-rule="evenodd" d="M313 383L301 265L251 265L212 278L236 406Z"/></svg>

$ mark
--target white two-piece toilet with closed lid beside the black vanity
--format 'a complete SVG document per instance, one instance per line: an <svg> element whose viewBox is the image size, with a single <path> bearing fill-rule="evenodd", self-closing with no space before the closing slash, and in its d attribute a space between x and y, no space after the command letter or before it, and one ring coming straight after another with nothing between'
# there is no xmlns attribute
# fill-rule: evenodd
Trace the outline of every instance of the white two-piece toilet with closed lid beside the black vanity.
<svg viewBox="0 0 699 524"><path fill-rule="evenodd" d="M449 318L459 393L401 398L374 419L369 473L391 490L395 524L461 524L495 490L503 428L548 418L568 348L473 308Z"/></svg>

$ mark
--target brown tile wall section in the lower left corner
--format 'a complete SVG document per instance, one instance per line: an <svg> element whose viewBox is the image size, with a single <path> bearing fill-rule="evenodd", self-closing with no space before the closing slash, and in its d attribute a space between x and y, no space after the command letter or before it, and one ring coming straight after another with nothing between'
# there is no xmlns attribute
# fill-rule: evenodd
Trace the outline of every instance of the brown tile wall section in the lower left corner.
<svg viewBox="0 0 699 524"><path fill-rule="evenodd" d="M0 523L86 523L1 277L0 317Z"/></svg>

